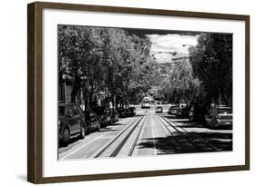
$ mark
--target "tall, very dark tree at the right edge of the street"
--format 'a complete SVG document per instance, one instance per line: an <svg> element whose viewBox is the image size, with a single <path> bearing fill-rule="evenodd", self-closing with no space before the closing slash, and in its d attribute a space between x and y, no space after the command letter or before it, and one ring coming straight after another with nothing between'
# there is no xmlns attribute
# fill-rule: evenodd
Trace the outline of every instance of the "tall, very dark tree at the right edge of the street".
<svg viewBox="0 0 256 186"><path fill-rule="evenodd" d="M226 102L232 94L232 35L200 34L196 47L189 48L189 60L200 79L206 102Z"/></svg>

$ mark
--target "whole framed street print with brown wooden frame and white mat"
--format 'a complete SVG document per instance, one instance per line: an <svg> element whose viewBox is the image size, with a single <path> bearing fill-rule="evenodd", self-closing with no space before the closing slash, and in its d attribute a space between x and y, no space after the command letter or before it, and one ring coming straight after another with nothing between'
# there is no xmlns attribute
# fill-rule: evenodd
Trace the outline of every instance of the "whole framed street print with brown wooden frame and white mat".
<svg viewBox="0 0 256 186"><path fill-rule="evenodd" d="M250 16L36 2L27 180L250 169Z"/></svg>

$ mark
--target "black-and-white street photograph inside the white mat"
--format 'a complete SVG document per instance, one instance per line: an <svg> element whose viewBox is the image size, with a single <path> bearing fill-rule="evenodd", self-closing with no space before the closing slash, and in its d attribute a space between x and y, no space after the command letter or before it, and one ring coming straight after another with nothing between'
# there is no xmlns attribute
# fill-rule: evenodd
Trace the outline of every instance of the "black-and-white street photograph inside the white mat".
<svg viewBox="0 0 256 186"><path fill-rule="evenodd" d="M58 161L231 152L233 34L57 25Z"/></svg>

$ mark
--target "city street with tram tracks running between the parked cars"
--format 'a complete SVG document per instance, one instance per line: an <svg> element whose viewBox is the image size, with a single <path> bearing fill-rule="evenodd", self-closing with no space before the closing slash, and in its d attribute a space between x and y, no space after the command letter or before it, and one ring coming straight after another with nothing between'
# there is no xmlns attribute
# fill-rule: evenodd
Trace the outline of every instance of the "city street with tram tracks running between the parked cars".
<svg viewBox="0 0 256 186"><path fill-rule="evenodd" d="M189 122L169 115L169 105L161 105L163 113L141 109L136 116L119 118L118 122L91 132L83 140L72 139L58 148L60 161L88 158L152 156L190 152L232 151L232 130L211 130L200 122Z"/></svg>

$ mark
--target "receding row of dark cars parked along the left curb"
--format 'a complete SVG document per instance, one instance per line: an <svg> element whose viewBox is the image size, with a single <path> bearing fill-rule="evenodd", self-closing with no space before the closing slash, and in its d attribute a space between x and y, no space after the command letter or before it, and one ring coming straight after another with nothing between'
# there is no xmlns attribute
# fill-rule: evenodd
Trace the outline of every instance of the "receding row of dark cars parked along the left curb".
<svg viewBox="0 0 256 186"><path fill-rule="evenodd" d="M59 142L67 144L71 138L85 138L86 134L99 131L100 128L118 122L119 117L136 115L134 107L128 109L107 109L97 106L91 111L82 111L77 103L58 104L58 138Z"/></svg>

